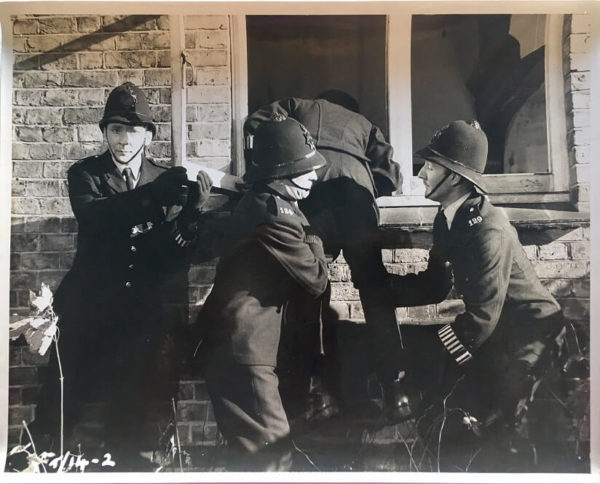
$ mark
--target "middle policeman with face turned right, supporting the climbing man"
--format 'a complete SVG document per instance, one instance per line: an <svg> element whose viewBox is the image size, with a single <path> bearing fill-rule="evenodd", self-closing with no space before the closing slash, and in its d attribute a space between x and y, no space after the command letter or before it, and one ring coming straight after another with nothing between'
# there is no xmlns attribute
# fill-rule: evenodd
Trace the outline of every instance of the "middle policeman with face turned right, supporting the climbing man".
<svg viewBox="0 0 600 484"><path fill-rule="evenodd" d="M255 149L252 187L231 217L227 248L196 326L215 418L229 445L228 469L287 470L290 429L275 373L277 350L294 308L327 288L321 241L307 233L297 204L325 161L304 126L282 116L261 126Z"/></svg>

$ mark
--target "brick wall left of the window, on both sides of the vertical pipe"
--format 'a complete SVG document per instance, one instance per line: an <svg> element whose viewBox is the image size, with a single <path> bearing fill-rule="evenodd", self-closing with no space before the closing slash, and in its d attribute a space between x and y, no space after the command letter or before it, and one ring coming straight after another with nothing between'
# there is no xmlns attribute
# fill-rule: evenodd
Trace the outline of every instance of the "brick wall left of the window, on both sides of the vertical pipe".
<svg viewBox="0 0 600 484"><path fill-rule="evenodd" d="M187 153L223 169L231 150L228 29L226 16L185 17ZM56 290L71 266L77 223L66 172L74 161L105 149L98 121L110 90L126 81L142 87L157 125L149 154L170 159L169 18L22 16L14 19L13 46L10 310L26 314L29 290L42 282ZM214 261L190 273L192 305L208 293L211 266ZM18 440L21 421L33 417L38 367L44 363L26 348L11 345L11 443ZM184 386L183 395L200 395L190 391ZM184 409L183 414L200 420L196 411Z"/></svg>

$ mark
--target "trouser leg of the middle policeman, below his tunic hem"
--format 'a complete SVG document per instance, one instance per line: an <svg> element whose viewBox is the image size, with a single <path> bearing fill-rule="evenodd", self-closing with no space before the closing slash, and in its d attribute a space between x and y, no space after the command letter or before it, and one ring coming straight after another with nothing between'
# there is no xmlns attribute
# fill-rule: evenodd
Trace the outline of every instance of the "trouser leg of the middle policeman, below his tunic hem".
<svg viewBox="0 0 600 484"><path fill-rule="evenodd" d="M228 444L228 470L289 470L290 427L274 367L209 365L205 375L217 426Z"/></svg>

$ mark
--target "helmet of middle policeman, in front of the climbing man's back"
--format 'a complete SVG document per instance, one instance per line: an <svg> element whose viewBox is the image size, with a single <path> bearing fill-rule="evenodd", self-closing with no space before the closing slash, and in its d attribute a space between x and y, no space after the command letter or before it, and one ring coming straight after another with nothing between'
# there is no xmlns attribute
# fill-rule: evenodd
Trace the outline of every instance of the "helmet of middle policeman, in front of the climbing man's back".
<svg viewBox="0 0 600 484"><path fill-rule="evenodd" d="M325 165L308 130L293 118L275 114L256 129L249 182L292 178Z"/></svg>

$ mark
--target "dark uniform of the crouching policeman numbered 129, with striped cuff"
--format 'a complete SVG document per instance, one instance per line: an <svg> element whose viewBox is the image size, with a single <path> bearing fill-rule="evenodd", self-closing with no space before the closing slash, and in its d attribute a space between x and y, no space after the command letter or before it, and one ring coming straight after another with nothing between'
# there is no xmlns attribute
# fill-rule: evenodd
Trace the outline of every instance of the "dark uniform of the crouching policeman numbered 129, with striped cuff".
<svg viewBox="0 0 600 484"><path fill-rule="evenodd" d="M438 371L464 373L462 397L471 400L471 411L511 422L555 349L564 326L560 307L537 278L514 227L478 193L457 210L450 229L438 214L432 251L452 264L465 311L442 327L403 326L411 355L405 365L409 372L419 367L425 385L435 384Z"/></svg>

